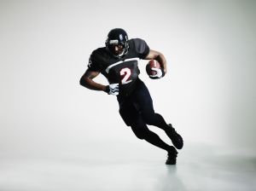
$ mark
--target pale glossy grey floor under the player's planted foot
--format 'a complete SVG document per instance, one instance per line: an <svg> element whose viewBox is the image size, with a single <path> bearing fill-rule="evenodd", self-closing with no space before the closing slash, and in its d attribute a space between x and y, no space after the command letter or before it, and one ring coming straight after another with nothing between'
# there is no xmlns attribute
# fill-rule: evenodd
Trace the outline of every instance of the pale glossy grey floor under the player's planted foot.
<svg viewBox="0 0 256 191"><path fill-rule="evenodd" d="M0 190L256 190L253 155L191 144L173 166L164 165L166 153L143 147L143 153L116 147L105 153L2 154Z"/></svg>

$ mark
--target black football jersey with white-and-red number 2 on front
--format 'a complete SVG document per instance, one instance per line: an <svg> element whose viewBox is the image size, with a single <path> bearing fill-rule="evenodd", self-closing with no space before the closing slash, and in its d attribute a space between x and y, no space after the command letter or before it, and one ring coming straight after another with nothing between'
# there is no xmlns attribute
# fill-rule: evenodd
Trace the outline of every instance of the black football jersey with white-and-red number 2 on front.
<svg viewBox="0 0 256 191"><path fill-rule="evenodd" d="M115 58L105 47L96 49L90 55L88 68L101 72L108 78L109 84L119 84L119 94L127 95L134 89L138 75L138 60L144 59L149 53L148 44L140 38L128 41L128 53Z"/></svg>

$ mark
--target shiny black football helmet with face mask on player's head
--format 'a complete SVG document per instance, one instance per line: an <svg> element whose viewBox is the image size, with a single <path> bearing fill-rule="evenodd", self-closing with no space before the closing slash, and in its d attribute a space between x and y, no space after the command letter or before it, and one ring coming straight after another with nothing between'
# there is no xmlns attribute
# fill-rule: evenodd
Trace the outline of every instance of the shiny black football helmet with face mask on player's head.
<svg viewBox="0 0 256 191"><path fill-rule="evenodd" d="M127 54L129 49L128 35L124 29L114 28L108 32L106 49L116 58Z"/></svg>

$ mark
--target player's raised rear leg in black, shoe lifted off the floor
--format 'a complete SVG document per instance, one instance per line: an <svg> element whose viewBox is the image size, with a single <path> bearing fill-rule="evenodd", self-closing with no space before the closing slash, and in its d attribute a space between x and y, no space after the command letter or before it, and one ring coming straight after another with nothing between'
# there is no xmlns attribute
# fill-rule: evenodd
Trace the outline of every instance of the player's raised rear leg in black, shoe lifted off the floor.
<svg viewBox="0 0 256 191"><path fill-rule="evenodd" d="M154 113L152 98L148 88L143 82L141 82L137 88L136 101L145 123L165 130L166 135L170 137L173 145L178 149L183 148L182 136L172 127L172 124L166 124L165 119L159 113Z"/></svg>

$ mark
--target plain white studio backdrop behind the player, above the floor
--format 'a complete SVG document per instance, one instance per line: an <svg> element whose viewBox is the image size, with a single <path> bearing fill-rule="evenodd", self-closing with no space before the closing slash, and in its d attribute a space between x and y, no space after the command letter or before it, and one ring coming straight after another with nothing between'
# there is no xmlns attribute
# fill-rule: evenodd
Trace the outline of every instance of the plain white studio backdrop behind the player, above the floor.
<svg viewBox="0 0 256 191"><path fill-rule="evenodd" d="M255 152L255 10L255 1L0 1L0 156L140 147L115 97L79 86L114 27L166 55L165 78L149 79L145 61L140 76L185 144Z"/></svg>

